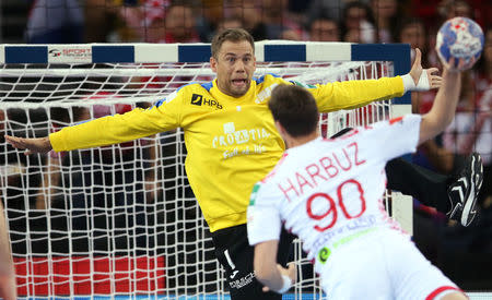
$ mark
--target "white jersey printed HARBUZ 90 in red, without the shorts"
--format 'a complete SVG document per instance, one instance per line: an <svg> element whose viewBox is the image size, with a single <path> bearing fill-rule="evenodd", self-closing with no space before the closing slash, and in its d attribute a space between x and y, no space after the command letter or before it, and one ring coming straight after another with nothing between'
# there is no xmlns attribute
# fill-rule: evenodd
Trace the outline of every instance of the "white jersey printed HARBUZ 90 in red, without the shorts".
<svg viewBox="0 0 492 300"><path fill-rule="evenodd" d="M401 230L383 206L385 166L415 151L420 121L420 116L409 115L285 151L254 188L249 243L278 240L284 224L314 259L321 248L333 252L376 228Z"/></svg>

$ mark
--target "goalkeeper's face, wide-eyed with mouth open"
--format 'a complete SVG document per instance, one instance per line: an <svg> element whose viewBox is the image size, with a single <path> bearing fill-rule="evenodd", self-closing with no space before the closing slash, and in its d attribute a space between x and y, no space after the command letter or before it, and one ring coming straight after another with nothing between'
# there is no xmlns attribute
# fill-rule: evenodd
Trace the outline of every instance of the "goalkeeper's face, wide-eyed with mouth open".
<svg viewBox="0 0 492 300"><path fill-rule="evenodd" d="M226 40L216 56L210 59L210 67L216 73L219 89L233 97L246 94L256 70L251 45L247 40L237 43Z"/></svg>

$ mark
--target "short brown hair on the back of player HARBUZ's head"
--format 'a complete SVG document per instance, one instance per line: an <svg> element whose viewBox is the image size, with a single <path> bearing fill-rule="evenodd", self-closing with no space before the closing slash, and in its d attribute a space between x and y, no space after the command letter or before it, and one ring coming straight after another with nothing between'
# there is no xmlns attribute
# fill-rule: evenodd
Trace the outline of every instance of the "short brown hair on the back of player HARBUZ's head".
<svg viewBox="0 0 492 300"><path fill-rule="evenodd" d="M319 112L316 100L306 88L282 84L271 93L268 103L273 120L279 121L290 135L297 137L316 131Z"/></svg>

